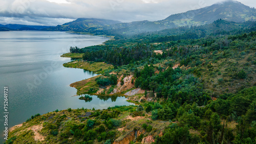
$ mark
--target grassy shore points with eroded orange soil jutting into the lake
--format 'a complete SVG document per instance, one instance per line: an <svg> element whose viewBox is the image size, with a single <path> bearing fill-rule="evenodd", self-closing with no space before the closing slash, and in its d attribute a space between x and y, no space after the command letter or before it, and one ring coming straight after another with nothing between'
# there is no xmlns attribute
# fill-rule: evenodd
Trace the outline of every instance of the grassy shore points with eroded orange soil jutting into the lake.
<svg viewBox="0 0 256 144"><path fill-rule="evenodd" d="M61 57L68 57L68 58L74 58L81 56L81 53L66 53L61 55ZM109 85L105 88L101 88L95 81L96 78L100 77L102 74L104 74L105 70L112 70L109 74L116 74L114 72L114 66L112 64L106 64L105 62L91 62L91 61L80 61L80 60L74 60L68 63L63 64L64 67L69 68L80 68L80 69L86 69L89 71L92 71L95 74L99 74L95 77L77 81L74 83L71 83L70 86L76 88L77 93L76 95L81 94L92 94L92 95L100 95L100 96L124 96L126 99L128 97L131 97L130 94L125 93L133 93L133 95L138 93L144 93L144 90L134 87L134 84L132 83L133 75L128 75L123 78L124 84L121 85L121 78L123 77L122 72L117 74L118 80L116 85ZM113 90L110 93L106 93L111 87L113 87ZM90 88L97 89L96 92L88 92ZM136 91L133 91L134 89L137 89ZM103 93L101 93L103 91Z"/></svg>

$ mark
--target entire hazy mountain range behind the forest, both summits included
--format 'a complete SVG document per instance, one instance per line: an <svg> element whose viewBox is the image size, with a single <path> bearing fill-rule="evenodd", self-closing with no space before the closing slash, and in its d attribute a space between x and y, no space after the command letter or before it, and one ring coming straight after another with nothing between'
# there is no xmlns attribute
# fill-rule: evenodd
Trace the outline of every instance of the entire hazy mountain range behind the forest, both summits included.
<svg viewBox="0 0 256 144"><path fill-rule="evenodd" d="M233 22L255 21L256 10L237 1L226 1L205 8L170 15L158 21L143 20L126 23L112 21L111 23L103 23L102 25L100 22L101 19L77 19L46 30L82 31L98 35L134 35L182 26L199 26L212 23L218 19Z"/></svg>

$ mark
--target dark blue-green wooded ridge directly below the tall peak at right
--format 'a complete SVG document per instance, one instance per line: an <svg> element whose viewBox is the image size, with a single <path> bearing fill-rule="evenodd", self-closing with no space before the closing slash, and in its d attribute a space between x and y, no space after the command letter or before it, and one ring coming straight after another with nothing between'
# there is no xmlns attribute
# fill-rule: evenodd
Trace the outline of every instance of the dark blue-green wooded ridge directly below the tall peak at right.
<svg viewBox="0 0 256 144"><path fill-rule="evenodd" d="M250 33L251 31L255 30L256 21L233 22L219 19L206 25L164 29L157 32L140 34L140 36L151 37L150 39L153 42L162 42L165 40L170 40L173 38L172 36L177 35L186 36L179 37L182 39L195 39L205 37L206 35L236 35L241 33ZM189 35L194 37L188 37Z"/></svg>

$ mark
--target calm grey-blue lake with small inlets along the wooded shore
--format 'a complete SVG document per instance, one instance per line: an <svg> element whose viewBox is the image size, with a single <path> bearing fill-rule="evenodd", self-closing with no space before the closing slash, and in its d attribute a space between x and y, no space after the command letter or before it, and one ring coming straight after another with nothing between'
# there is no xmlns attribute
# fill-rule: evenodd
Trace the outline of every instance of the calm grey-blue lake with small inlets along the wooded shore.
<svg viewBox="0 0 256 144"><path fill-rule="evenodd" d="M66 68L71 61L60 55L70 46L101 44L106 37L66 32L11 31L0 32L0 91L2 98L0 130L4 130L4 87L8 86L8 127L25 122L31 115L63 109L104 109L130 105L124 97L98 97L79 100L71 83L96 76L91 71ZM1 136L1 141L3 135Z"/></svg>

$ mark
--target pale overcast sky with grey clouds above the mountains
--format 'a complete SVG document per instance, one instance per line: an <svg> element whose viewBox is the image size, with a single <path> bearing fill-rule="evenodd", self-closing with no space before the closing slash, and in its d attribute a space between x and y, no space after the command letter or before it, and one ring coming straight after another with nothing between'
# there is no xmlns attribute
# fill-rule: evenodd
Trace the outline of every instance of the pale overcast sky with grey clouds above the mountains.
<svg viewBox="0 0 256 144"><path fill-rule="evenodd" d="M255 0L238 1L256 8ZM221 2L223 0L0 0L0 23L56 26L79 17L154 21Z"/></svg>

